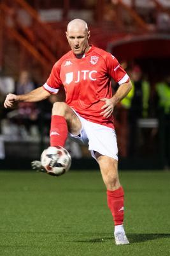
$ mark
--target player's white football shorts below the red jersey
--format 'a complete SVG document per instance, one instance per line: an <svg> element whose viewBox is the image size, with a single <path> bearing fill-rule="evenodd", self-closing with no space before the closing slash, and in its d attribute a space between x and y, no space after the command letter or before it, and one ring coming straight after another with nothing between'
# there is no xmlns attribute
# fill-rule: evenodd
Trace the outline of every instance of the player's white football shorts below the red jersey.
<svg viewBox="0 0 170 256"><path fill-rule="evenodd" d="M73 109L74 111L74 109ZM80 135L73 135L69 133L72 140L83 145L89 145L89 150L92 157L95 157L94 152L112 157L118 160L118 147L117 147L117 135L114 129L96 124L85 120L74 111L76 116L80 119L82 128Z"/></svg>

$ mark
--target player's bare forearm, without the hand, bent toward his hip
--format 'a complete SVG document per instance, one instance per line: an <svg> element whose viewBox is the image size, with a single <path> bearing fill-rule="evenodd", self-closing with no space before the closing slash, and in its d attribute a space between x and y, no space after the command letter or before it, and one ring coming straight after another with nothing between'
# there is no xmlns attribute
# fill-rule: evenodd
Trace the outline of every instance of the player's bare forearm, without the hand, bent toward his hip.
<svg viewBox="0 0 170 256"><path fill-rule="evenodd" d="M121 84L118 87L118 90L115 93L115 95L113 95L112 97L113 102L115 103L114 105L116 105L118 102L124 99L124 97L127 96L127 94L131 91L131 89L132 89L131 81L129 81L128 83Z"/></svg>

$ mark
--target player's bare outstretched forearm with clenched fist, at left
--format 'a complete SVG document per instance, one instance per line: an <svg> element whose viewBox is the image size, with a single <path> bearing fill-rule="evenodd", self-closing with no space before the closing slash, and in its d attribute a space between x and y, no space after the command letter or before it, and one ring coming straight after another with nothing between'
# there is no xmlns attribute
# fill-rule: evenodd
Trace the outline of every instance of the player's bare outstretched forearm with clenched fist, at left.
<svg viewBox="0 0 170 256"><path fill-rule="evenodd" d="M37 102L40 100L45 100L50 96L43 86L22 95L8 94L4 100L4 108L11 108L13 104L17 102Z"/></svg>

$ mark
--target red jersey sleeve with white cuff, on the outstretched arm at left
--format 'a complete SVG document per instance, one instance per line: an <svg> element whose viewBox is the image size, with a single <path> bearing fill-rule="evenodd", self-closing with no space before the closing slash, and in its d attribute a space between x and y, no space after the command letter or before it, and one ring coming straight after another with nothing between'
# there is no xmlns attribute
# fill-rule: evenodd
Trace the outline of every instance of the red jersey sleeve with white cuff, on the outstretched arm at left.
<svg viewBox="0 0 170 256"><path fill-rule="evenodd" d="M60 61L57 61L55 65L53 65L52 72L46 83L43 84L43 88L46 91L55 94L59 92L61 85L62 81L60 80Z"/></svg>

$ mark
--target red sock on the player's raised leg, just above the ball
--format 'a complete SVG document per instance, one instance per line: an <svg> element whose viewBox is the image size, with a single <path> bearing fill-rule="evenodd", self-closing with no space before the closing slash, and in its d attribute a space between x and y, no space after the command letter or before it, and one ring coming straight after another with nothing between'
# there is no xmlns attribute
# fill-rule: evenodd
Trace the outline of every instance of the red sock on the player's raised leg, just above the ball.
<svg viewBox="0 0 170 256"><path fill-rule="evenodd" d="M50 129L50 146L64 147L67 139L68 129L64 116L52 116L51 129Z"/></svg>

